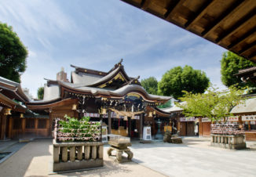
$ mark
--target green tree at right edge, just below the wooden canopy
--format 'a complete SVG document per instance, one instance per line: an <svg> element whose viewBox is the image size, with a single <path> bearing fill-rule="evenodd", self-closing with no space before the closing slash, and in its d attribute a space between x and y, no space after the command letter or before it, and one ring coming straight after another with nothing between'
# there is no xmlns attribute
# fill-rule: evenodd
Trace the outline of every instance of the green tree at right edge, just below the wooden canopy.
<svg viewBox="0 0 256 177"><path fill-rule="evenodd" d="M238 70L254 66L256 66L255 63L252 63L233 52L224 52L221 60L221 81L227 87L230 87L231 85L236 85L237 88L244 86L254 87L250 81L244 83L239 77L237 78L234 75L238 73Z"/></svg>

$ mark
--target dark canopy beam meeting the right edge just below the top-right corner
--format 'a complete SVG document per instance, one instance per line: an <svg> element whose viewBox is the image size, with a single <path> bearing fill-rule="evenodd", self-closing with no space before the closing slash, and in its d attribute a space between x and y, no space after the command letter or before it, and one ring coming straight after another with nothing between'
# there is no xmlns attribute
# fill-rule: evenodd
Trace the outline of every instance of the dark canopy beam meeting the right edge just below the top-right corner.
<svg viewBox="0 0 256 177"><path fill-rule="evenodd" d="M244 23L247 23L248 20L255 16L256 8L252 9L246 16L243 16L240 20L238 20L232 27L230 27L227 31L221 34L215 42L220 45L220 42L227 38L230 34L235 32L239 27L243 26Z"/></svg>

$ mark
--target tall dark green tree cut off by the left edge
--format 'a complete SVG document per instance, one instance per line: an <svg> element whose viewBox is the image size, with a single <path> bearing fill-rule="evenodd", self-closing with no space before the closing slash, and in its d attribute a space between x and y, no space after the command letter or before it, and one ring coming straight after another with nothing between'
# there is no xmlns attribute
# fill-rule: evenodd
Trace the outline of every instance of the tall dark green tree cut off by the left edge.
<svg viewBox="0 0 256 177"><path fill-rule="evenodd" d="M26 69L27 49L13 31L13 27L0 23L0 76L20 82Z"/></svg>

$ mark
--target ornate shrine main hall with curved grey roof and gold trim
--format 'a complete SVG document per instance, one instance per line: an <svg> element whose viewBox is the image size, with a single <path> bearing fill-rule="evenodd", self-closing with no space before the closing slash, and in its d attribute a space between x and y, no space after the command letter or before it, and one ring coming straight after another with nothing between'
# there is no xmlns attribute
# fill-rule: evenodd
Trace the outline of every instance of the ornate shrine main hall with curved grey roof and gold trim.
<svg viewBox="0 0 256 177"><path fill-rule="evenodd" d="M148 94L138 80L140 77L128 76L122 62L108 72L71 65L75 69L71 71L71 81L64 70L57 73L57 80L46 79L43 99L27 102L27 109L49 117L48 136L54 120L64 119L65 114L102 121L108 126L108 134L140 139L144 126L151 127L152 135L156 134L156 120L174 126L170 114L157 107L171 97Z"/></svg>

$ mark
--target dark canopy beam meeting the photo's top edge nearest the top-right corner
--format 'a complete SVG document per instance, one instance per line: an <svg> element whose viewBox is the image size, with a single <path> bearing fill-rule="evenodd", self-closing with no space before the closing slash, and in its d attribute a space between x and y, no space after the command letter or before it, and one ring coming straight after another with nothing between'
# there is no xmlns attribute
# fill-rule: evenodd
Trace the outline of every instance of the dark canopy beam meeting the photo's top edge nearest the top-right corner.
<svg viewBox="0 0 256 177"><path fill-rule="evenodd" d="M236 1L235 3L230 5L230 7L226 9L225 12L221 14L221 16L218 16L218 18L214 20L213 23L210 23L210 25L206 27L206 29L202 33L203 38L205 38L207 34L209 34L211 31L214 31L214 29L218 27L218 24L221 23L222 20L228 19L229 16L231 16L238 9L240 9L241 6L243 6L245 3L245 1Z"/></svg>

